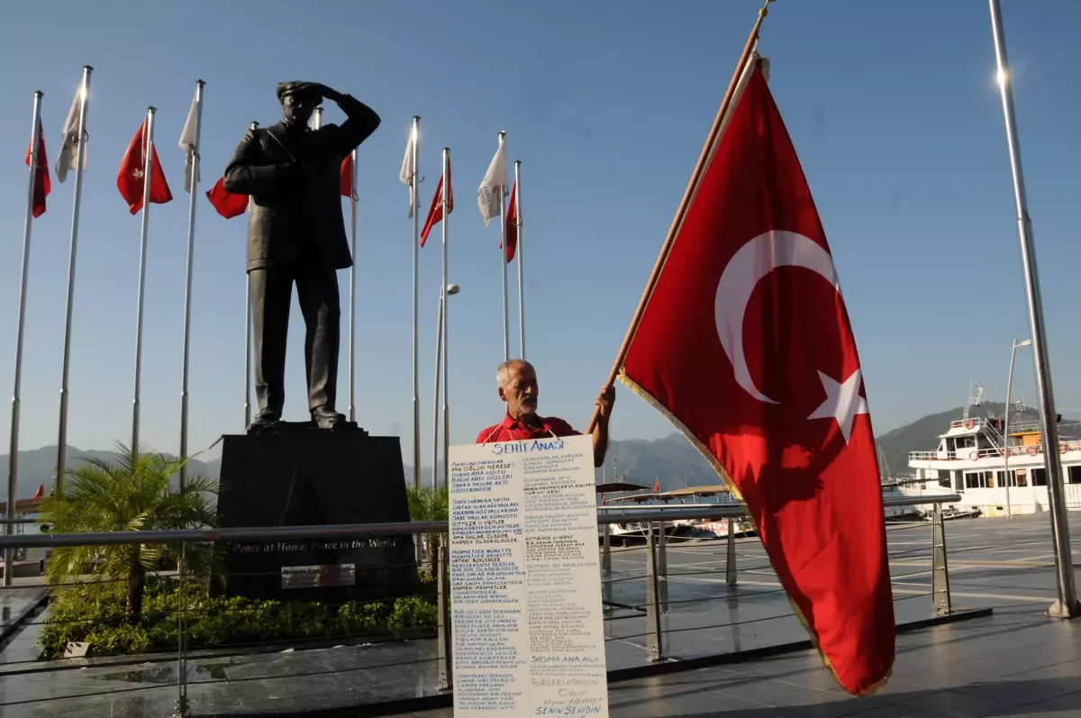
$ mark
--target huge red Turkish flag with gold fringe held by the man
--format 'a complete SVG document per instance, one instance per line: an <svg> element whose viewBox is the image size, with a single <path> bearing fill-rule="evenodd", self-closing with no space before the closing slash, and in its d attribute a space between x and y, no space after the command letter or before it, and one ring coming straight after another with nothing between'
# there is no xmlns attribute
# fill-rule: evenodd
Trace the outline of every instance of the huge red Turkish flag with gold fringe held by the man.
<svg viewBox="0 0 1081 718"><path fill-rule="evenodd" d="M895 630L859 358L757 62L745 81L620 378L746 503L797 615L838 682L860 694L889 676Z"/></svg>

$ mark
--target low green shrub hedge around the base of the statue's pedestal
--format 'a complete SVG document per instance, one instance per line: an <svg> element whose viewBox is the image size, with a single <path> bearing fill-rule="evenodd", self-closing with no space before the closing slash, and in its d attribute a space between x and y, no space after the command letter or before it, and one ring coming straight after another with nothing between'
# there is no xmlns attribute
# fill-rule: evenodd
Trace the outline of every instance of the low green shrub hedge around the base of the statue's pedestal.
<svg viewBox="0 0 1081 718"><path fill-rule="evenodd" d="M186 583L188 648L275 643L320 638L390 636L437 625L435 582L422 596L343 604L210 598L205 585ZM63 657L69 641L89 641L88 655L176 648L179 590L174 580L149 577L142 615L131 623L126 585L86 583L57 591L41 630L42 657Z"/></svg>

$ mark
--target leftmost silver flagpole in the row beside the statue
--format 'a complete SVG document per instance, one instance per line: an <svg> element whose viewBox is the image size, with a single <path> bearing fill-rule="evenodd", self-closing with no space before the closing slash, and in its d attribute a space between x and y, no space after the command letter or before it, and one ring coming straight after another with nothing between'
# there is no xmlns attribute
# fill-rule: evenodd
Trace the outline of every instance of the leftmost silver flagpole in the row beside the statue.
<svg viewBox="0 0 1081 718"><path fill-rule="evenodd" d="M30 178L26 190L26 224L23 230L23 271L18 280L18 321L15 330L15 386L11 393L11 449L8 454L8 523L4 533L15 532L15 494L18 489L18 414L23 386L23 327L26 321L26 283L30 275L30 230L34 225L34 189L37 184L38 167L42 161L39 152L41 142L41 98L40 90L34 93L34 120L30 124ZM12 581L12 559L14 551L3 551L3 585Z"/></svg>

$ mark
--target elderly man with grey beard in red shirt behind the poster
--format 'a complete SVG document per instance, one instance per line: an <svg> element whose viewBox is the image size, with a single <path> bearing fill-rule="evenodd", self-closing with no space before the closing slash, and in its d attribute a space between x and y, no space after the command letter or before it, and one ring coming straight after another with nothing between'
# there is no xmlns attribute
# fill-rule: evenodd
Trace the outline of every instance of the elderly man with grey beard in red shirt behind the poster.
<svg viewBox="0 0 1081 718"><path fill-rule="evenodd" d="M507 415L494 426L477 435L477 443L519 441L546 436L580 436L570 424L556 416L537 415L537 373L524 359L511 359L499 364L495 372L499 398L507 403ZM615 387L609 386L597 397L600 418L593 427L593 466L604 463L608 450L608 423L615 403Z"/></svg>

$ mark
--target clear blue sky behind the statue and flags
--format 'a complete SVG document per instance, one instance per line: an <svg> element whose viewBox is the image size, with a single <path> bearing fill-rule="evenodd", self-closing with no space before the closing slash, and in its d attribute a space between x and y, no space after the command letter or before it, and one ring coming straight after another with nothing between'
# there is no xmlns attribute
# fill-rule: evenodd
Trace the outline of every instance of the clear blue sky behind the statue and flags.
<svg viewBox="0 0 1081 718"><path fill-rule="evenodd" d="M453 152L450 262L463 289L450 315L452 441L472 440L502 415L498 227L485 229L475 200L499 130L508 133L508 159L523 162L528 354L540 372L542 412L580 426L759 4L112 0L90 11L76 2L12 3L0 25L3 381L10 386L14 358L31 93L45 93L52 164L80 68L95 67L70 378L69 441L80 448L106 448L131 433L139 220L117 192L116 172L147 105L158 107L158 151L176 200L150 214L142 435L175 451L187 230L176 142L195 81L206 81L201 192L251 120L279 119L275 83L304 79L349 92L383 118L359 163L361 425L402 435L410 456L411 225L397 177L417 114L422 212L440 148ZM1003 10L1056 399L1081 412L1073 372L1081 243L1072 211L1081 194L1081 5L1037 4L1004 0ZM761 51L772 59L771 88L833 250L876 429L961 403L970 381L1001 400L1010 343L1027 335L1027 320L987 3L778 0ZM339 110L330 105L325 119L341 121ZM23 448L56 441L71 191L70 178L54 181L49 211L34 226ZM242 428L244 235L243 218L227 222L201 199L192 449ZM422 251L425 463L439 266L438 244ZM345 301L348 272L339 278ZM517 331L515 321L512 346ZM306 410L302 337L294 300L286 417L295 420ZM343 347L343 409L345 362ZM1023 349L1015 387L1035 403L1031 376ZM4 412L2 436L8 423ZM670 430L619 393L616 438Z"/></svg>

